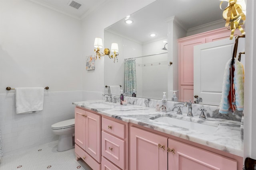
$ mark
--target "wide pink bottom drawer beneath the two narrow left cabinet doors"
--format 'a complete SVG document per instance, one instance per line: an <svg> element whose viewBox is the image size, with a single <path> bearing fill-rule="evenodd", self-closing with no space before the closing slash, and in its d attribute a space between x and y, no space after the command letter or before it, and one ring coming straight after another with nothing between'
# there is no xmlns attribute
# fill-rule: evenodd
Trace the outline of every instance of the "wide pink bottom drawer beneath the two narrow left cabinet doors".
<svg viewBox="0 0 256 170"><path fill-rule="evenodd" d="M86 164L88 164L93 170L100 170L100 164L94 160L88 153L86 153L82 148L75 144L75 152Z"/></svg>

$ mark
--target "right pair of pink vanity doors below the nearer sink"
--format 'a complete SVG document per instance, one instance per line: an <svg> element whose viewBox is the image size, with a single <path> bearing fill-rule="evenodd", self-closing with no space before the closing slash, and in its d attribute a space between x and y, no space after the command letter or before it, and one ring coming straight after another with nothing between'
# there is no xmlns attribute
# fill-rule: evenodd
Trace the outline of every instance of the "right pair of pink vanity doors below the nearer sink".
<svg viewBox="0 0 256 170"><path fill-rule="evenodd" d="M242 170L243 158L138 125L130 126L130 170Z"/></svg>

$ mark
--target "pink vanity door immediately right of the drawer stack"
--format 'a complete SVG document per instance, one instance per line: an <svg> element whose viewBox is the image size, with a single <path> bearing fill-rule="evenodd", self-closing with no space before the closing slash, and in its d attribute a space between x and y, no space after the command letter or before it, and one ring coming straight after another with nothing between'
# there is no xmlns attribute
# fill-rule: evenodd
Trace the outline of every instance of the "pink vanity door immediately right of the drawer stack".
<svg viewBox="0 0 256 170"><path fill-rule="evenodd" d="M167 170L167 166L167 138L130 127L130 169Z"/></svg>

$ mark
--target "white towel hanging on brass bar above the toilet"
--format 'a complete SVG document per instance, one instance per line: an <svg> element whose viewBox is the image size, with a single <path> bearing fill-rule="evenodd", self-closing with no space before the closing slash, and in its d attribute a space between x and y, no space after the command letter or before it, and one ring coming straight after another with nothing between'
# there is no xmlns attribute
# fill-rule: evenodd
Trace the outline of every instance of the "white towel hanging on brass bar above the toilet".
<svg viewBox="0 0 256 170"><path fill-rule="evenodd" d="M44 106L44 88L15 88L16 113L35 113Z"/></svg>

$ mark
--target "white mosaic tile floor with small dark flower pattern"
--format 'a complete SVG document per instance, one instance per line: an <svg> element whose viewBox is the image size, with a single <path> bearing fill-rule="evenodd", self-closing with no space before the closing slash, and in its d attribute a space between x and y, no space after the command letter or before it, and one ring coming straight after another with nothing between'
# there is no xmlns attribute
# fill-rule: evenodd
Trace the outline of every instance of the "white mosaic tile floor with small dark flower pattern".
<svg viewBox="0 0 256 170"><path fill-rule="evenodd" d="M76 161L74 149L58 152L57 143L3 156L0 170L92 170L82 160Z"/></svg>

